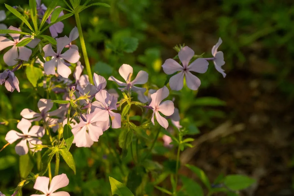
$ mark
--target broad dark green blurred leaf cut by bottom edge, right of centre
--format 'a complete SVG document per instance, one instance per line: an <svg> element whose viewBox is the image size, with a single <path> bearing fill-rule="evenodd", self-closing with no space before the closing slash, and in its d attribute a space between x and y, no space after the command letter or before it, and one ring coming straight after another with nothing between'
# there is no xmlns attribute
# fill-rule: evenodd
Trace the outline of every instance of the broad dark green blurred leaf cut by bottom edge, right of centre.
<svg viewBox="0 0 294 196"><path fill-rule="evenodd" d="M193 196L203 196L203 190L201 186L196 183L194 180L187 178L186 176L180 176L182 183L183 183L183 189L185 190L185 193L187 195L193 195Z"/></svg>

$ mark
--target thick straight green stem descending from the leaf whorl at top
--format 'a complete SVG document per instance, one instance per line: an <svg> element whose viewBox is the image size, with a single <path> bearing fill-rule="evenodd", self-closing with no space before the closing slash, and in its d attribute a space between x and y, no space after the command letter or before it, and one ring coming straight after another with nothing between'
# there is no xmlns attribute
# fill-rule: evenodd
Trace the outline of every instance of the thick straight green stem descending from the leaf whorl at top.
<svg viewBox="0 0 294 196"><path fill-rule="evenodd" d="M83 36L83 30L82 30L82 26L81 26L79 13L75 13L74 17L76 19L77 28L78 28L78 31L79 31L79 38L80 38L80 42L81 42L81 47L82 47L82 51L83 51L83 56L84 56L84 61L85 61L85 65L86 65L87 74L89 76L89 81L90 81L91 84L94 84L93 76L92 76L92 72L91 72L91 67L90 67L90 62L89 62L87 49L86 49L86 45L85 45L85 40L84 40L84 36Z"/></svg>

